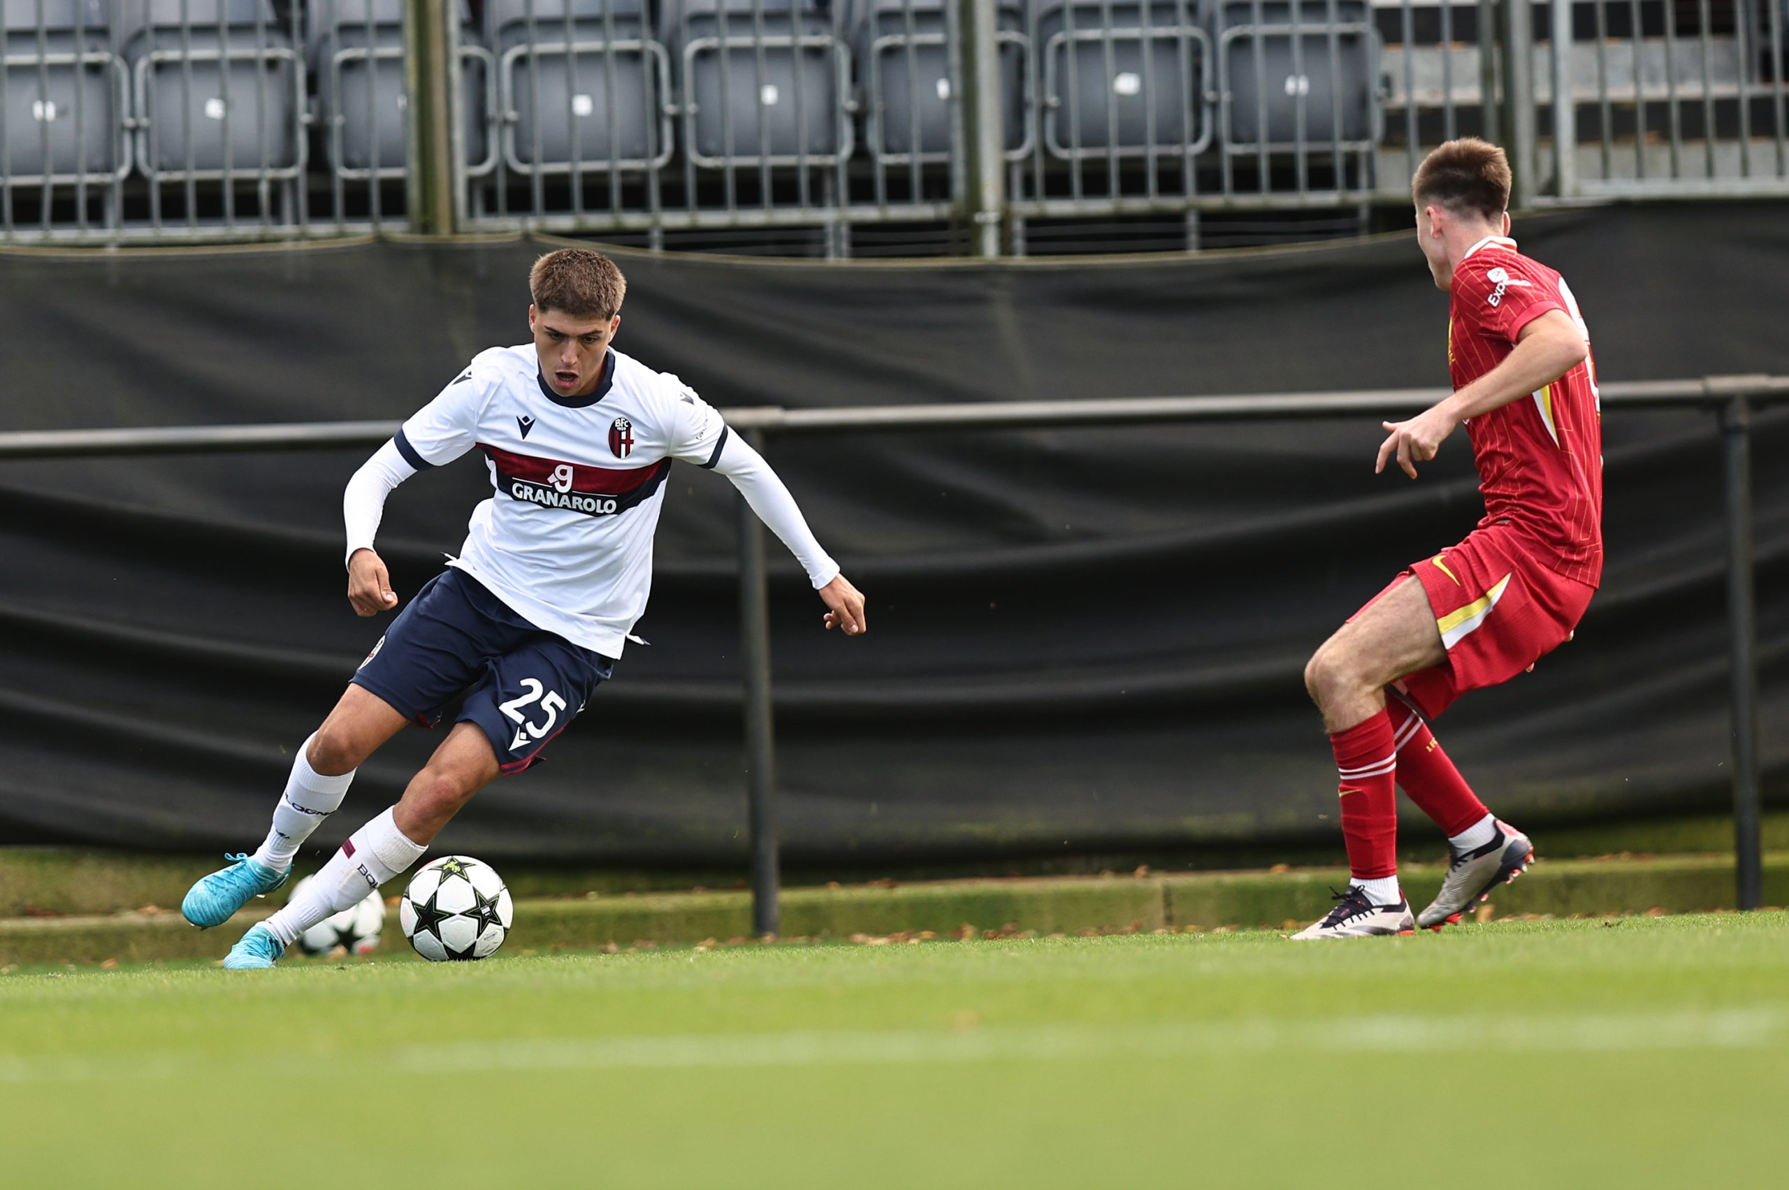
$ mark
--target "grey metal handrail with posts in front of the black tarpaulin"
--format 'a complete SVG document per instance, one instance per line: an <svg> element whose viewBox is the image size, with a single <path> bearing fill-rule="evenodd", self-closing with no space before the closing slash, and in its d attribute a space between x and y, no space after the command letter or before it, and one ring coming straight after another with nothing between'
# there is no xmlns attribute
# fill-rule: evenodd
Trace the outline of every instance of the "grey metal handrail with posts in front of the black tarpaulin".
<svg viewBox="0 0 1789 1190"><path fill-rule="evenodd" d="M873 408L723 410L726 422L762 447L771 437L827 433L909 433L918 429L1116 428L1318 417L1413 413L1446 390L1329 394L1131 397L1113 401L993 401ZM1751 408L1789 401L1789 378L1721 376L1700 381L1605 383L1612 410L1707 408L1721 422L1726 526L1728 662L1734 725L1734 854L1741 909L1764 904L1759 789L1759 660L1751 531ZM209 455L224 451L306 451L374 447L401 422L315 422L288 426L181 426L159 429L57 429L0 433L0 460L106 455ZM778 932L778 845L775 716L771 701L769 592L764 526L735 497L739 523L741 659L751 852L753 929Z"/></svg>

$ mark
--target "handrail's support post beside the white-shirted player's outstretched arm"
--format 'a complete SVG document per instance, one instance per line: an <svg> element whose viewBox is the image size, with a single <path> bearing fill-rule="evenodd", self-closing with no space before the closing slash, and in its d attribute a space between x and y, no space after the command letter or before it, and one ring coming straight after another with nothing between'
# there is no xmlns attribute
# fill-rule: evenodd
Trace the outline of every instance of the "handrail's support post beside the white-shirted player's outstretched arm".
<svg viewBox="0 0 1789 1190"><path fill-rule="evenodd" d="M744 431L753 447L764 435ZM771 625L764 578L764 524L744 496L739 510L739 659L746 685L746 818L751 845L751 931L778 932L776 741L771 718Z"/></svg>

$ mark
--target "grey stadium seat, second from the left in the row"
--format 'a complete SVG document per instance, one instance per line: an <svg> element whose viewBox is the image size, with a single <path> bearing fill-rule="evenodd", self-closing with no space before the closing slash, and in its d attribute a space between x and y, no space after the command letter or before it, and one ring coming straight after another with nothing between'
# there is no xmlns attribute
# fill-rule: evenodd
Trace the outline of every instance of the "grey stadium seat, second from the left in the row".
<svg viewBox="0 0 1789 1190"><path fill-rule="evenodd" d="M297 177L304 68L268 0L116 0L150 181ZM263 174L265 172L265 174Z"/></svg>

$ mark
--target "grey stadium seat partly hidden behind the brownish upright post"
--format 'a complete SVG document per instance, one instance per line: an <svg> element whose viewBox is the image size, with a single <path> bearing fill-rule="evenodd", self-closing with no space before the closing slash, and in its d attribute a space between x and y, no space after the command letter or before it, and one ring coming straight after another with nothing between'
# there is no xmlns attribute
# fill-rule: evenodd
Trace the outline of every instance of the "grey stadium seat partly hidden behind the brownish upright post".
<svg viewBox="0 0 1789 1190"><path fill-rule="evenodd" d="M467 29L471 9L460 0L460 95L465 113L465 159L472 175L488 174L492 57ZM317 77L317 116L324 152L342 177L403 177L410 120L404 89L404 0L311 0L306 9L304 54Z"/></svg>

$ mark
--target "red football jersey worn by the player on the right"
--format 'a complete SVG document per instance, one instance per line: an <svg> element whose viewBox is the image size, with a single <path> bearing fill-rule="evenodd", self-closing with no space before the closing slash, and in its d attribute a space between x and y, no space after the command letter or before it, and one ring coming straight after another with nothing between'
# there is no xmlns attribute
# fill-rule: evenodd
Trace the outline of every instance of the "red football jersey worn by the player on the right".
<svg viewBox="0 0 1789 1190"><path fill-rule="evenodd" d="M1524 326L1549 310L1571 317L1589 347L1578 301L1565 279L1488 236L1453 277L1447 367L1454 390L1492 370L1515 349ZM1481 526L1506 521L1537 539L1535 558L1567 578L1603 576L1603 426L1596 363L1565 372L1528 399L1467 421L1485 496Z"/></svg>

